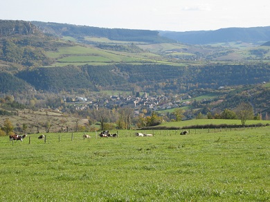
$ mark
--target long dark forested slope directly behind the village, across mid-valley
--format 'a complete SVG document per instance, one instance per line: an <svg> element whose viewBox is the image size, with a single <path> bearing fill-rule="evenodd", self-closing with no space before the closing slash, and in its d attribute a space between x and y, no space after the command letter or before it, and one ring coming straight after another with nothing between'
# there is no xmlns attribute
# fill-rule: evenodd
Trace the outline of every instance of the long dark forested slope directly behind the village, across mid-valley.
<svg viewBox="0 0 270 202"><path fill-rule="evenodd" d="M269 82L269 64L170 66L161 64L115 64L110 66L65 66L35 68L21 71L17 77L35 89L60 91L62 89L130 90L139 86L144 91L182 91L217 89L219 86L237 86Z"/></svg>

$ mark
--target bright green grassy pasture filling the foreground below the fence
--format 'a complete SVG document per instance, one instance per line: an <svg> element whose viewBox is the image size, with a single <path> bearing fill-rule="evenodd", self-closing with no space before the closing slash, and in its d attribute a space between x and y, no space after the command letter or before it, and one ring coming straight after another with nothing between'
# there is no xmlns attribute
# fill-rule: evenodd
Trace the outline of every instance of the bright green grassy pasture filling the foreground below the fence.
<svg viewBox="0 0 270 202"><path fill-rule="evenodd" d="M0 137L0 200L269 201L269 129Z"/></svg>

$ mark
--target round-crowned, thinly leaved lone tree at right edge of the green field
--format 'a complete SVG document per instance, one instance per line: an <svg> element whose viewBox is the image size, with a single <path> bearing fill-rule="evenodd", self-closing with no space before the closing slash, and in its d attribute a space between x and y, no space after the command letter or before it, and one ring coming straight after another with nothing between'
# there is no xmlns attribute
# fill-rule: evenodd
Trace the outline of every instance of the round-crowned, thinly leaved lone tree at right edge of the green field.
<svg viewBox="0 0 270 202"><path fill-rule="evenodd" d="M241 102L235 109L237 117L241 120L242 125L246 124L246 120L252 120L254 117L253 107L247 102Z"/></svg>

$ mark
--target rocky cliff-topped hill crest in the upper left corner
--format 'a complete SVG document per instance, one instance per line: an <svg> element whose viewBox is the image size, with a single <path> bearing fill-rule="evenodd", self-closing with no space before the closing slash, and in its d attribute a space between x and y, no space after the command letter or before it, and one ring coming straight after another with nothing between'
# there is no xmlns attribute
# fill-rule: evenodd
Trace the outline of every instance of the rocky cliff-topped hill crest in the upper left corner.
<svg viewBox="0 0 270 202"><path fill-rule="evenodd" d="M0 20L0 37L12 35L38 35L40 31L28 21Z"/></svg>

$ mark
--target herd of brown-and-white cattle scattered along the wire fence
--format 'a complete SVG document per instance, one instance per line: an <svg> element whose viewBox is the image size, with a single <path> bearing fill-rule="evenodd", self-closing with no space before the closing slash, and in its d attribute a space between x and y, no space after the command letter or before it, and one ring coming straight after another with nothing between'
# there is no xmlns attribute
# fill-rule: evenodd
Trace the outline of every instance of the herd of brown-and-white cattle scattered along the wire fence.
<svg viewBox="0 0 270 202"><path fill-rule="evenodd" d="M188 134L188 131L181 131L181 133L180 133L180 135L186 135L186 134ZM116 138L116 137L118 137L118 134L109 134L109 131L101 131L101 133L99 134L99 136L101 137L101 138L110 138L110 137L112 137L112 138ZM136 133L136 136L141 136L141 137L152 137L152 136L154 136L153 134L142 134L142 133ZM12 135L12 136L10 136L10 141L11 140L16 140L16 141L18 141L18 140L23 140L24 138L26 138L27 137L27 134L24 134L23 136L20 136L20 135ZM43 139L45 136L42 134L41 136L39 136L38 138L39 139ZM83 138L91 138L91 136L89 136L89 135L87 135L87 134L84 134L83 136L82 136Z"/></svg>

